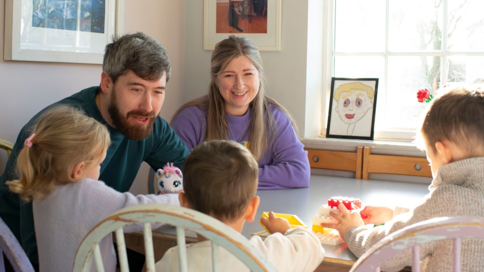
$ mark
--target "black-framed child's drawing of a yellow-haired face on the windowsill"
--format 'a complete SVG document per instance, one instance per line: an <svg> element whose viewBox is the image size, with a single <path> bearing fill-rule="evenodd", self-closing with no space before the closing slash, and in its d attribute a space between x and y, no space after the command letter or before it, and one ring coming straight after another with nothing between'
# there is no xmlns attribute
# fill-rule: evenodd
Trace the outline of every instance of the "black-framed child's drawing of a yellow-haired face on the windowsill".
<svg viewBox="0 0 484 272"><path fill-rule="evenodd" d="M378 78L331 79L327 138L373 140Z"/></svg>

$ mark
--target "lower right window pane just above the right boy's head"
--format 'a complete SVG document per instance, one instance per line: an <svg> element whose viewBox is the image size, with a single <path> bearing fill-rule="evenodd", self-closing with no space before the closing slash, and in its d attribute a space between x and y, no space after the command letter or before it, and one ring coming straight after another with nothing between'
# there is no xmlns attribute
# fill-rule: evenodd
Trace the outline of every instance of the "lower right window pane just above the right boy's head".
<svg viewBox="0 0 484 272"><path fill-rule="evenodd" d="M484 56L449 56L447 84L473 84L484 79Z"/></svg>

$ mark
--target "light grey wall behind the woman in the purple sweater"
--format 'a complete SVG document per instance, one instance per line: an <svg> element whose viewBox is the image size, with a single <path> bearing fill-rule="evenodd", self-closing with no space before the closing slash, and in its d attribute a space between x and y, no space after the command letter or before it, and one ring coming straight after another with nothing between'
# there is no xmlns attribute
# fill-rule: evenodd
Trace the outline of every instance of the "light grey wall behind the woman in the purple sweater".
<svg viewBox="0 0 484 272"><path fill-rule="evenodd" d="M281 51L261 51L268 95L305 131L307 13L311 0L281 0ZM320 1L320 0L317 0ZM203 50L203 1L186 0L183 101L206 94L211 50ZM228 34L227 34L228 36Z"/></svg>

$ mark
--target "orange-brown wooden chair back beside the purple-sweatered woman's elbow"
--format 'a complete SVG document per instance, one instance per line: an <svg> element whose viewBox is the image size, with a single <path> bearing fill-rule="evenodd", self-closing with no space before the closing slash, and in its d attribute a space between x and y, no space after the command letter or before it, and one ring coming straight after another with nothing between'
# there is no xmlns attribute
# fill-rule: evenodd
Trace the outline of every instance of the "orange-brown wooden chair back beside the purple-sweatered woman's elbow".
<svg viewBox="0 0 484 272"><path fill-rule="evenodd" d="M363 147L358 146L356 152L305 150L311 168L354 172L357 179L361 178Z"/></svg>

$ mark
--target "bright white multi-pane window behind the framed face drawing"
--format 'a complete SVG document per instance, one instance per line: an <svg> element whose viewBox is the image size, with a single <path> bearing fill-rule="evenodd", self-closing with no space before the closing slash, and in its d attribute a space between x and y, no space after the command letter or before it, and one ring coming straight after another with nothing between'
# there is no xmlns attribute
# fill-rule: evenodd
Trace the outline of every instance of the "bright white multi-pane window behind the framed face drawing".
<svg viewBox="0 0 484 272"><path fill-rule="evenodd" d="M326 10L330 75L379 78L375 138L411 139L418 89L484 78L482 0L333 0Z"/></svg>

